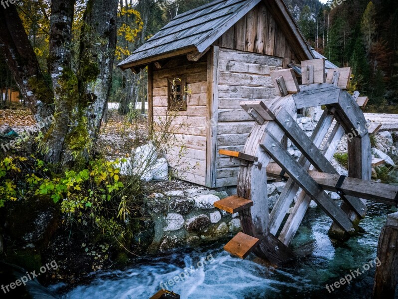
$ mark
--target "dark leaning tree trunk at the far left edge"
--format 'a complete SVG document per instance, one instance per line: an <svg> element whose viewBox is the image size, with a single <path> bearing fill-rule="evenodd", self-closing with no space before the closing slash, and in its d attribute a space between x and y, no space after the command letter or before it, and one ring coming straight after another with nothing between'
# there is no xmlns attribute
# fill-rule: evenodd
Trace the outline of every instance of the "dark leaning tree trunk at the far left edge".
<svg viewBox="0 0 398 299"><path fill-rule="evenodd" d="M41 131L49 128L48 117L54 113L53 92L44 81L39 63L19 18L15 5L0 5L0 52L14 81Z"/></svg>

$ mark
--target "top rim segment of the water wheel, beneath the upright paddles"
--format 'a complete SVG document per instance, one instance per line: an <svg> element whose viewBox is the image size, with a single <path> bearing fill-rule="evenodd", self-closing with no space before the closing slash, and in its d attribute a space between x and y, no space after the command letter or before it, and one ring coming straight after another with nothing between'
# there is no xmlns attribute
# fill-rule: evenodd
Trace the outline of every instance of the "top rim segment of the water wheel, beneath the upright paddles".
<svg viewBox="0 0 398 299"><path fill-rule="evenodd" d="M326 83L305 85L298 94L293 95L293 99L297 109L336 104L340 91L339 87Z"/></svg>

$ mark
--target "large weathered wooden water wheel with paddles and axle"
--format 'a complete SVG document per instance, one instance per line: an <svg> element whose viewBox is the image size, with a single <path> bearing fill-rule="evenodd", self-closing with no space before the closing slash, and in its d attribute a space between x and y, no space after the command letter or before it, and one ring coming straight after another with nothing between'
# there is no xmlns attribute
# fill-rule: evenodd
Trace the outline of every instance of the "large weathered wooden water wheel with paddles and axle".
<svg viewBox="0 0 398 299"><path fill-rule="evenodd" d="M271 76L279 96L267 103L241 102L242 108L256 120L244 151L220 150L241 165L237 195L214 205L230 213L239 212L242 224L243 233L238 233L225 250L241 258L253 251L279 264L295 257L288 245L311 200L333 220L329 235L341 239L358 230L359 221L366 214L365 199L392 204L397 202L397 190L369 181L371 129L360 107L366 105L367 98L359 98L357 92L351 96L345 90L351 77L349 68L329 71L326 78L323 59L303 61L301 88L291 69L274 71ZM326 109L308 137L294 116L297 109L320 105ZM349 139L348 176L340 175L330 163L344 134ZM298 160L287 151L285 138L301 151ZM319 149L322 143L324 146ZM267 176L287 181L270 214ZM302 191L281 228L299 188ZM338 192L342 205L338 206L325 190Z"/></svg>

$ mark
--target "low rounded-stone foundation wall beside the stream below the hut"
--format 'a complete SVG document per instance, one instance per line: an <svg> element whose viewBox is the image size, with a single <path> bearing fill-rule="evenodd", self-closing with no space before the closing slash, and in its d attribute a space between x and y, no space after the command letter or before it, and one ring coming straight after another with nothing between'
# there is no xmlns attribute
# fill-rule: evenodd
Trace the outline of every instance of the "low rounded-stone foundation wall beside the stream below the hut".
<svg viewBox="0 0 398 299"><path fill-rule="evenodd" d="M171 248L216 240L241 229L238 213L230 214L213 206L228 194L206 189L153 193L146 202L155 223L150 250Z"/></svg>

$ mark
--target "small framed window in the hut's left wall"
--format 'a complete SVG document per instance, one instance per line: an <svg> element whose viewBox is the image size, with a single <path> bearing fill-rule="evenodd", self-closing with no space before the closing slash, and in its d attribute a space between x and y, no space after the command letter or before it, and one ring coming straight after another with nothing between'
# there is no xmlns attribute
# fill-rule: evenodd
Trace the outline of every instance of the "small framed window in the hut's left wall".
<svg viewBox="0 0 398 299"><path fill-rule="evenodd" d="M168 110L187 110L185 76L168 78L167 95Z"/></svg>

